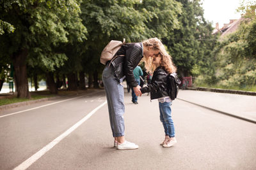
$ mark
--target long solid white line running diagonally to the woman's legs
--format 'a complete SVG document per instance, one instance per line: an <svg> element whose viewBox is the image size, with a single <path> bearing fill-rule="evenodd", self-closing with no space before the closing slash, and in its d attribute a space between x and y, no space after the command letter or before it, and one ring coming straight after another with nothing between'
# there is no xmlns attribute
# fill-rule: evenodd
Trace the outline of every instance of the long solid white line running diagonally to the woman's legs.
<svg viewBox="0 0 256 170"><path fill-rule="evenodd" d="M20 164L19 166L15 167L14 170L17 169L27 169L29 166L31 166L31 164L33 164L34 162L36 162L36 160L40 159L40 157L42 157L46 152L48 152L49 150L51 150L51 148L55 145L57 145L63 138L65 138L66 136L68 136L68 134L70 134L71 132L73 132L75 129L77 129L77 127L79 127L81 124L83 124L88 118L92 117L92 115L99 110L102 106L104 106L107 103L107 101L105 101L104 103L100 104L100 106L98 106L97 108L95 108L93 111L91 111L88 115L86 115L86 117L82 118L81 120L79 120L79 122L77 122L76 124L74 124L72 127L70 127L67 131L65 131L63 134L61 134L60 136L58 136L56 139L54 139L51 143L49 143L48 145L44 146L44 148L42 148L40 151L36 152L34 155L32 155L29 159L25 160L24 162L22 162L22 164Z"/></svg>

